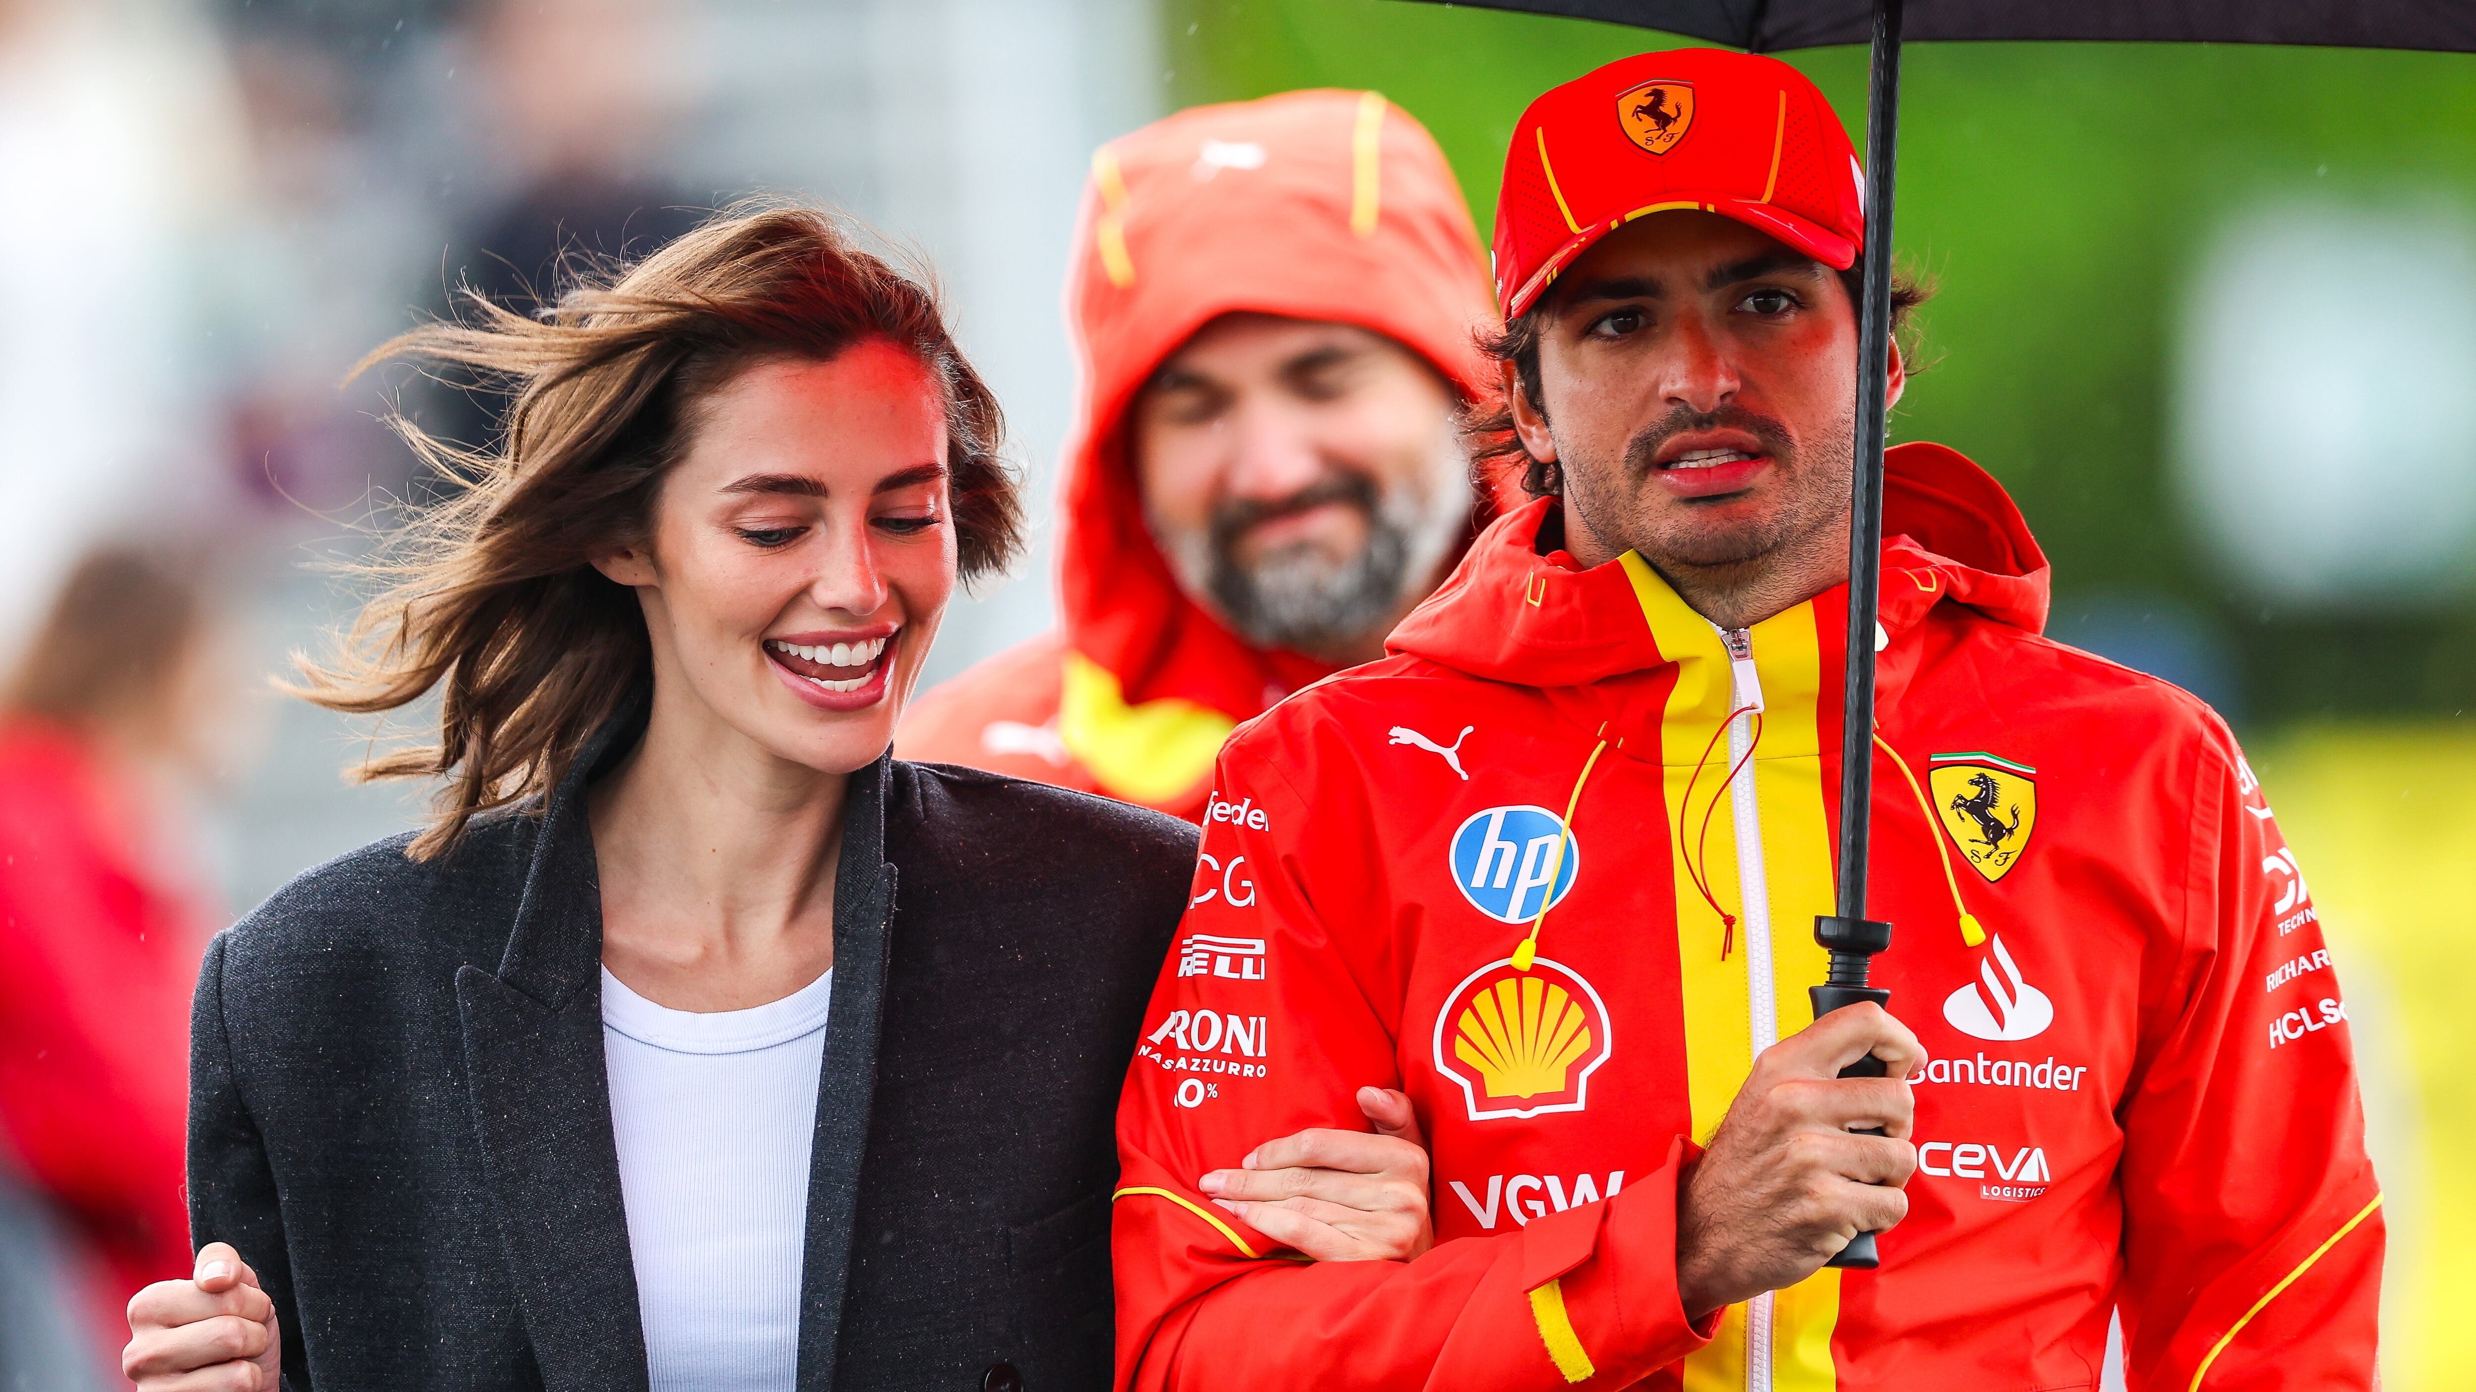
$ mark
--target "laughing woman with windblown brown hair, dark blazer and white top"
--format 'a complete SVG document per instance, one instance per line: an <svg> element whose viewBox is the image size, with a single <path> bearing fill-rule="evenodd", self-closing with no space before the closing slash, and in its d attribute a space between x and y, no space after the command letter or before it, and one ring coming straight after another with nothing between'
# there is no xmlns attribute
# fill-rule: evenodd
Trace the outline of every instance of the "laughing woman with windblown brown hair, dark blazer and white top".
<svg viewBox="0 0 2476 1392"><path fill-rule="evenodd" d="M805 208L537 320L389 344L515 389L305 694L441 741L421 835L215 939L193 1281L141 1387L1102 1387L1112 1110L1193 832L889 758L1018 503L933 297ZM1357 1137L1332 1246L1424 1243ZM1322 1189L1317 1189L1322 1184ZM230 1243L230 1246L225 1246ZM1312 1246L1312 1243L1310 1243Z"/></svg>

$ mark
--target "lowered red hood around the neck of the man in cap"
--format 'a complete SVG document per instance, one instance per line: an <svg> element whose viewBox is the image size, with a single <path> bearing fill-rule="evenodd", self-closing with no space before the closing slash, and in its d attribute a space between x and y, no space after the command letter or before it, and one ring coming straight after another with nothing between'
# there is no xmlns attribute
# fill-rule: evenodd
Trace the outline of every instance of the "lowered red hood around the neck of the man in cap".
<svg viewBox="0 0 2476 1392"><path fill-rule="evenodd" d="M1884 453L1882 498L1887 634L1944 602L2045 629L2045 552L1993 476L1954 448L1907 443ZM1565 552L1538 555L1550 508L1555 498L1538 498L1496 520L1384 646L1520 686L1585 686L1669 661L1622 562L1582 570Z"/></svg>

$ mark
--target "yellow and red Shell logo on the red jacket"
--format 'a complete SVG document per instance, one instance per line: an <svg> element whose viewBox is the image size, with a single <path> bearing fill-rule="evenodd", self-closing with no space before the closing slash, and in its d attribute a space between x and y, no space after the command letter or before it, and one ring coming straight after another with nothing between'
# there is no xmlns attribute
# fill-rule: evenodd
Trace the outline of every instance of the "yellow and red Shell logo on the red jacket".
<svg viewBox="0 0 2476 1392"><path fill-rule="evenodd" d="M1609 1053L1599 993L1545 956L1530 971L1481 966L1436 1013L1436 1072L1461 1087L1473 1122L1580 1112Z"/></svg>

